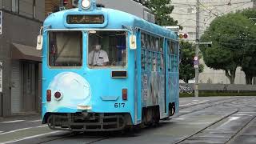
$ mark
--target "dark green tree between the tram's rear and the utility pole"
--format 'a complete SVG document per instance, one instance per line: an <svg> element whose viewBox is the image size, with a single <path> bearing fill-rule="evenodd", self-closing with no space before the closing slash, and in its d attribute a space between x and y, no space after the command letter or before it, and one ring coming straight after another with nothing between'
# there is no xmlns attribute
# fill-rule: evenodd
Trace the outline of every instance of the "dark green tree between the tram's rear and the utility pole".
<svg viewBox="0 0 256 144"><path fill-rule="evenodd" d="M181 63L179 70L179 78L184 82L189 82L190 79L194 78L194 55L195 46L190 42L180 42L181 50ZM199 72L202 73L203 65L199 65Z"/></svg>

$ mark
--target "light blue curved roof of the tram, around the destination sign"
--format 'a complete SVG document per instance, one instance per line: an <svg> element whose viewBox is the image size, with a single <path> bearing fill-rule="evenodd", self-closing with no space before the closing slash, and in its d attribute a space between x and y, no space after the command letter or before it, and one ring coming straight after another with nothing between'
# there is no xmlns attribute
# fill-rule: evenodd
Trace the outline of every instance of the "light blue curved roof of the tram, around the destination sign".
<svg viewBox="0 0 256 144"><path fill-rule="evenodd" d="M178 39L176 34L168 30L162 26L158 26L152 22L147 22L146 20L142 18L138 18L137 16L134 16L132 14L128 14L126 12L120 11L120 10L113 10L113 9L107 9L107 8L98 8L99 10L95 10L95 12L102 11L107 14L108 16L108 23L105 27L102 27L101 29L122 29L122 26L132 26L132 27L138 27L141 30L145 30L147 32L150 32L152 34L158 34L166 38L172 38L172 39ZM51 26L51 29L66 29L66 26L64 25L64 21L66 19L64 18L65 14L71 14L72 12L80 12L78 11L78 8L70 9L70 10L62 10L58 11L56 13L50 14L49 17L46 18L44 22L44 26ZM86 12L83 12L86 14ZM90 14L91 11L90 11ZM86 26L77 26L70 29L83 29L86 28Z"/></svg>

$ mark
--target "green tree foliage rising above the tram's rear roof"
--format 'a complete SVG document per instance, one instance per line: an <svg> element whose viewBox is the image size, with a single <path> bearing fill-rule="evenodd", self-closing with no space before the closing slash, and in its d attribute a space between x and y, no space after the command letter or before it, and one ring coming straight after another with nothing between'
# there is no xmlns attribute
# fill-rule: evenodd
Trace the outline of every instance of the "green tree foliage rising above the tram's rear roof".
<svg viewBox="0 0 256 144"><path fill-rule="evenodd" d="M147 0L142 3L153 12L156 24L160 26L177 26L178 21L174 21L170 17L170 14L174 10L174 6L171 6L170 2L171 0Z"/></svg>

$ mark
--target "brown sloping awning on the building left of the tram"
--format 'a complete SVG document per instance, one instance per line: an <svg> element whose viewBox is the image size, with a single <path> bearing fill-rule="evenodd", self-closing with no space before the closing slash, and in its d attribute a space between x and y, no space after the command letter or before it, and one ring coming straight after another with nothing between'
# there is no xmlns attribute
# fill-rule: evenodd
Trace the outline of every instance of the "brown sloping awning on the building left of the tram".
<svg viewBox="0 0 256 144"><path fill-rule="evenodd" d="M18 43L11 44L11 58L42 62L42 51L36 50L33 46L26 46Z"/></svg>

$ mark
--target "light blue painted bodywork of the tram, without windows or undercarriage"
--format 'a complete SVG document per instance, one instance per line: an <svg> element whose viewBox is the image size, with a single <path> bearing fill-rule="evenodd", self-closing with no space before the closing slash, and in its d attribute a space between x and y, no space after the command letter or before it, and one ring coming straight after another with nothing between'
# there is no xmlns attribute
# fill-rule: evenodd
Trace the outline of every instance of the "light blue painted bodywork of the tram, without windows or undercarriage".
<svg viewBox="0 0 256 144"><path fill-rule="evenodd" d="M104 14L106 21L103 24L75 24L66 23L68 14ZM122 26L131 26L138 28L137 50L127 49L128 64L123 69L90 69L87 66L87 30L124 30ZM129 113L134 124L142 121L142 107L150 106L142 96L142 76L147 75L150 81L157 80L158 95L164 97L165 73L143 71L141 69L141 42L140 30L150 32L164 38L178 41L174 32L157 26L153 23L127 14L122 11L98 8L94 11L78 11L78 9L63 10L50 14L44 22L43 49L42 49L42 118L47 112L54 113L75 113L78 105L92 106L88 112L94 113ZM47 27L50 26L50 27ZM82 31L82 66L72 69L51 69L47 63L48 54L48 31L49 30L81 30ZM128 37L130 32L128 33ZM128 40L127 40L128 41ZM164 46L166 50L166 46ZM127 78L111 78L112 70L126 70ZM154 75L154 78L153 78ZM178 73L167 74L167 81L178 82ZM147 85L150 85L147 83ZM73 84L73 85L68 85ZM128 100L122 100L122 89L128 89ZM52 96L51 102L46 102L46 90L61 90L63 98L55 101ZM83 93L84 92L84 93ZM53 95L53 94L52 94ZM166 85L166 104L157 102L155 104L166 105L168 112L168 103L175 102L178 110L178 85ZM170 97L168 97L168 95ZM125 107L114 108L114 103L125 103ZM162 114L162 118L168 114Z"/></svg>

